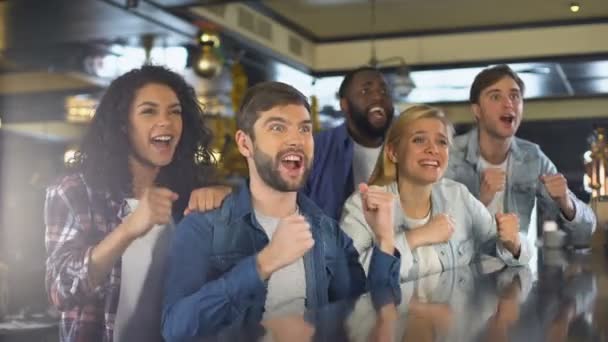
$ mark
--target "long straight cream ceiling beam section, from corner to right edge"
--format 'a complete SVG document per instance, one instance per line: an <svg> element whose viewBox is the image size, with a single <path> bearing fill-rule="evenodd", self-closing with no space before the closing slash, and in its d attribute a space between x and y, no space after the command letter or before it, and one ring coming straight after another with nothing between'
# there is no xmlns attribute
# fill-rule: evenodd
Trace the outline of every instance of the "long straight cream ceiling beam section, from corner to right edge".
<svg viewBox="0 0 608 342"><path fill-rule="evenodd" d="M608 53L606 37L608 23L380 39L376 51L380 60L401 56L413 66L474 64ZM350 70L369 58L369 41L316 44L312 69Z"/></svg>

